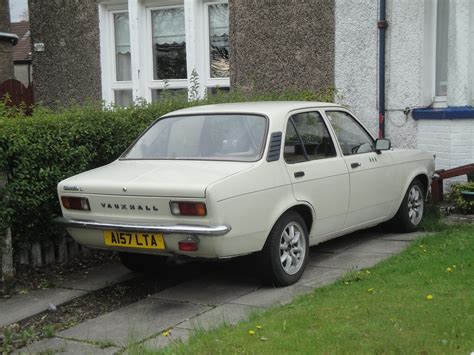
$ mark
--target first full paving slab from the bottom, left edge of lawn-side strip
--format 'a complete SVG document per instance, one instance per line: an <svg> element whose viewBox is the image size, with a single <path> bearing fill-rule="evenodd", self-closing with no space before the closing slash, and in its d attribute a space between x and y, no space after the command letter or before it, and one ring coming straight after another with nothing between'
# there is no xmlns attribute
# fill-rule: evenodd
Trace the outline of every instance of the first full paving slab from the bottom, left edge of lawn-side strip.
<svg viewBox="0 0 474 355"><path fill-rule="evenodd" d="M118 346L161 333L210 307L144 299L58 333L84 341L107 340Z"/></svg>

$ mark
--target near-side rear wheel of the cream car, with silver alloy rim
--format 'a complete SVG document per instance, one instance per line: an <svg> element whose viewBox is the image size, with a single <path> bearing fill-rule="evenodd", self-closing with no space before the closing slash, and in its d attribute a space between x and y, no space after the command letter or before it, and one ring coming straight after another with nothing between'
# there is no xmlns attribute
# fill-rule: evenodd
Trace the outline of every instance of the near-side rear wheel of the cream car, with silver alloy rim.
<svg viewBox="0 0 474 355"><path fill-rule="evenodd" d="M294 211L281 216L261 254L264 282L282 287L298 281L309 254L308 229L303 218Z"/></svg>

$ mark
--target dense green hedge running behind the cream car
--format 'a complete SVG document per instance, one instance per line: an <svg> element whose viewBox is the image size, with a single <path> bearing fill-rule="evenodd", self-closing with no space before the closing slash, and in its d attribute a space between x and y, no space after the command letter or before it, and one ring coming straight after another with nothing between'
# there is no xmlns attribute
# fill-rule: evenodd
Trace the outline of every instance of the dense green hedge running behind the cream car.
<svg viewBox="0 0 474 355"><path fill-rule="evenodd" d="M0 228L12 228L15 246L60 236L61 231L52 223L60 214L57 183L115 160L154 119L167 112L218 102L332 98L332 90L253 96L232 92L193 102L183 95L169 95L156 104L139 103L129 108L88 104L53 112L37 107L30 117L3 111L0 171L7 173L8 183L0 190Z"/></svg>

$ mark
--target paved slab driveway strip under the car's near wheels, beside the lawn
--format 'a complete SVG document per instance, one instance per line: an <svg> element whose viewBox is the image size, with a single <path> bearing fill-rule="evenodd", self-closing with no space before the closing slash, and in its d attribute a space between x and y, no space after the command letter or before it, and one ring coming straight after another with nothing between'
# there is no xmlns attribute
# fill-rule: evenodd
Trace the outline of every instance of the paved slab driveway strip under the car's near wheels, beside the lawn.
<svg viewBox="0 0 474 355"><path fill-rule="evenodd" d="M296 295L334 282L348 271L371 267L399 253L420 235L368 230L312 247L302 279L286 288L263 286L250 258L215 263L215 270L211 268L190 281L61 331L55 338L33 343L19 352L113 354L126 351L131 343L162 347L176 339L186 340L195 329L210 329L224 322L235 324L251 312L291 302ZM87 280L84 282L87 286ZM170 335L164 337L166 330ZM105 343L109 346L102 348Z"/></svg>

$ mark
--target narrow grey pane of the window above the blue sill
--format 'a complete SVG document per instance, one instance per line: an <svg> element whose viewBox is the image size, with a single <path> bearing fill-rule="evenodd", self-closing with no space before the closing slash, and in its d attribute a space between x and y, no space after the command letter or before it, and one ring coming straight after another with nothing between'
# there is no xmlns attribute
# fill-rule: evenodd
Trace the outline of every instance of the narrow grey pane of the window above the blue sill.
<svg viewBox="0 0 474 355"><path fill-rule="evenodd" d="M449 0L438 0L436 19L436 96L448 91L448 19Z"/></svg>

